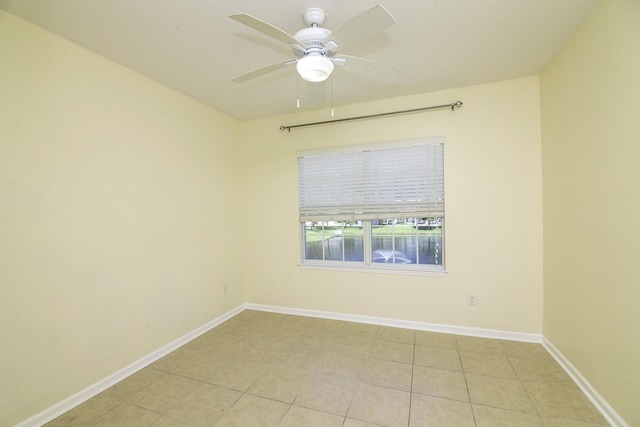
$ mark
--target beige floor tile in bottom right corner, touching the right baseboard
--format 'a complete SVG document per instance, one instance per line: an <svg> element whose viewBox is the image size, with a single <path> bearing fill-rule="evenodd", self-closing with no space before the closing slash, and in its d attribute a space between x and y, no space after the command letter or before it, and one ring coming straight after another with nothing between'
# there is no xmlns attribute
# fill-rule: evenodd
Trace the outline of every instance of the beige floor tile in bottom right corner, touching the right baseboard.
<svg viewBox="0 0 640 427"><path fill-rule="evenodd" d="M524 387L543 417L607 425L604 417L575 384L525 382Z"/></svg>

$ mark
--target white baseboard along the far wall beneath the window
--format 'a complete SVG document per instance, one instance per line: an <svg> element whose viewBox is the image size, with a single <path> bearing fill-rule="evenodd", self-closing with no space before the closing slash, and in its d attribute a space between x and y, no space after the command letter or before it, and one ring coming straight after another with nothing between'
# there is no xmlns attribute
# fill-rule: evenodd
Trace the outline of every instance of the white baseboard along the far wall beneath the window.
<svg viewBox="0 0 640 427"><path fill-rule="evenodd" d="M442 332L446 334L467 335L481 338L494 338L509 341L541 343L542 335L525 332L502 331L499 329L470 328L464 326L442 325L439 323L396 320L384 317L361 316L356 314L334 313L330 311L305 310L300 308L278 307L272 305L244 305L249 310L269 311L272 313L292 314L295 316L318 317L322 319L344 320L347 322L368 323L371 325L391 326L394 328L415 329L418 331Z"/></svg>

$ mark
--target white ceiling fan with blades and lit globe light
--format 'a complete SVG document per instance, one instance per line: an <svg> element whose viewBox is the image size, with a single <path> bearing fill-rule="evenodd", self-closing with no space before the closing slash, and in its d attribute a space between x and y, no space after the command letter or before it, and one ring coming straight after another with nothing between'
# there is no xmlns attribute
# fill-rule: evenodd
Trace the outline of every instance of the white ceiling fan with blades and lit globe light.
<svg viewBox="0 0 640 427"><path fill-rule="evenodd" d="M334 66L385 82L394 82L400 78L402 72L388 65L357 56L337 53L341 49L360 43L383 32L396 22L393 16L381 5L357 15L334 31L322 27L326 13L320 8L307 9L303 17L308 27L303 28L292 36L246 13L231 15L231 19L241 24L276 40L288 43L295 57L295 59L267 65L242 74L232 81L243 83L293 64L296 65L296 70L300 77L312 83L325 81L333 72Z"/></svg>

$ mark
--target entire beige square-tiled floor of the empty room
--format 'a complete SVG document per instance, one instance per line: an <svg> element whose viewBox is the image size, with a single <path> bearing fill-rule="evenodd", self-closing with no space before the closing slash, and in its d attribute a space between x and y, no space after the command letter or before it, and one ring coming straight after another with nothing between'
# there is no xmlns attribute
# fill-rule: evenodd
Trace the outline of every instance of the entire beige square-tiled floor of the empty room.
<svg viewBox="0 0 640 427"><path fill-rule="evenodd" d="M246 310L48 426L608 425L538 344Z"/></svg>

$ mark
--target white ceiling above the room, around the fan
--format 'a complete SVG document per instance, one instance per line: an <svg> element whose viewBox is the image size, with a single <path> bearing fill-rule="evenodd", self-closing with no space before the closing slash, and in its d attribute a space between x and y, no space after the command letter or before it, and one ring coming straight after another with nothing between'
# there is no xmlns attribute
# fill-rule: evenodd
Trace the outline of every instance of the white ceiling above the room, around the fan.
<svg viewBox="0 0 640 427"><path fill-rule="evenodd" d="M599 0L0 0L0 8L241 120L293 113L294 67L238 84L292 58L284 43L228 18L248 13L295 34L320 7L335 29L382 4L396 19L341 53L402 70L394 84L336 69L334 104L538 74ZM327 85L327 87L329 87ZM309 104L300 80L301 109Z"/></svg>

